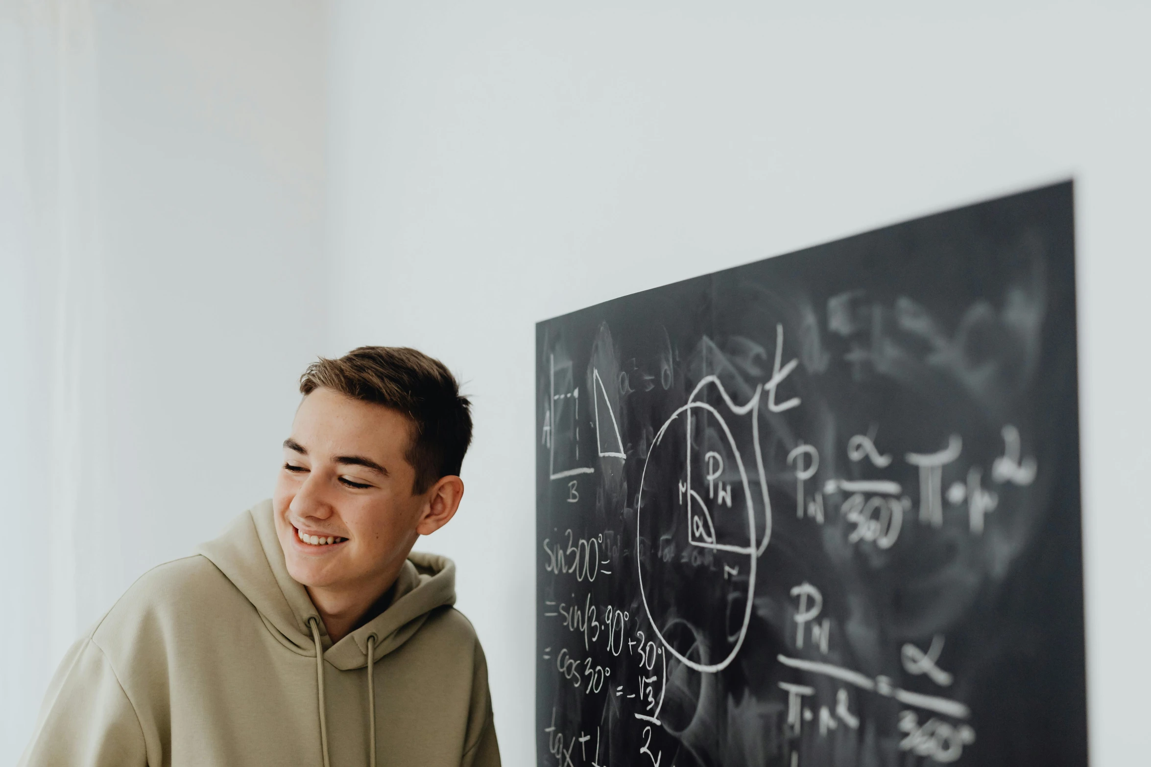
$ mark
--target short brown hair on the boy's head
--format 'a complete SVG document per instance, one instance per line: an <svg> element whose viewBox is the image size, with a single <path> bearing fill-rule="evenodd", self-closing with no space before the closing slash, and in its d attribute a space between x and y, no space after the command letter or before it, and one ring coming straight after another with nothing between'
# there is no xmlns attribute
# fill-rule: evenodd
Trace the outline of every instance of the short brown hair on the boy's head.
<svg viewBox="0 0 1151 767"><path fill-rule="evenodd" d="M403 413L412 422L404 458L416 469L413 493L458 475L472 443L471 402L440 360L406 346L360 346L338 360L320 358L299 377L299 391L320 388Z"/></svg>

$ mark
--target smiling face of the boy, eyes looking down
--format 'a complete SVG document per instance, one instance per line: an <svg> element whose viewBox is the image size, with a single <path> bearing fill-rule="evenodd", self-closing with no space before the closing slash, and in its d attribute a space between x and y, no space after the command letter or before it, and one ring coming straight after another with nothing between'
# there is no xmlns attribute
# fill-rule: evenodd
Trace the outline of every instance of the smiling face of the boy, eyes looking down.
<svg viewBox="0 0 1151 767"><path fill-rule="evenodd" d="M419 535L447 521L429 513L436 485L412 493L410 438L407 417L382 405L330 389L304 398L272 498L292 578L308 589L379 596Z"/></svg>

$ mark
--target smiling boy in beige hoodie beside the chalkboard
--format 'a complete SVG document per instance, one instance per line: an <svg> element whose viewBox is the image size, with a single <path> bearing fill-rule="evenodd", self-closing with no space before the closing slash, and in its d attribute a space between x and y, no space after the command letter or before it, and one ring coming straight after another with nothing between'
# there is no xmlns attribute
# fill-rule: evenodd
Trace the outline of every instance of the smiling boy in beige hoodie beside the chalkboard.
<svg viewBox="0 0 1151 767"><path fill-rule="evenodd" d="M140 577L56 672L24 765L500 765L455 565L470 405L436 360L321 359L270 501Z"/></svg>

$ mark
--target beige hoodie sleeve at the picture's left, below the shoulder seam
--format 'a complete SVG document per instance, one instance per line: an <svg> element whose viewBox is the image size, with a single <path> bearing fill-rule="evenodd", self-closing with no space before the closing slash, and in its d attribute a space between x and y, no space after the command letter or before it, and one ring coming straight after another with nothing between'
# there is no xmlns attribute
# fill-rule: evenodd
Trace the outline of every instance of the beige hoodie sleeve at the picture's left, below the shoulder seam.
<svg viewBox="0 0 1151 767"><path fill-rule="evenodd" d="M20 765L147 765L136 710L104 651L90 638L74 644L60 664Z"/></svg>

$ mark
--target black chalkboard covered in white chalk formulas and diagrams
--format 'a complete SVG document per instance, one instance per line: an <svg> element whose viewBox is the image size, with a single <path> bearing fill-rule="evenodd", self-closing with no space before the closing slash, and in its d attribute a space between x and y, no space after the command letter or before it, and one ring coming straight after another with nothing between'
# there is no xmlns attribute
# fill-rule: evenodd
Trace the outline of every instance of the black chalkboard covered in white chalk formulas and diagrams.
<svg viewBox="0 0 1151 767"><path fill-rule="evenodd" d="M1087 764L1070 182L541 322L536 366L539 764Z"/></svg>

